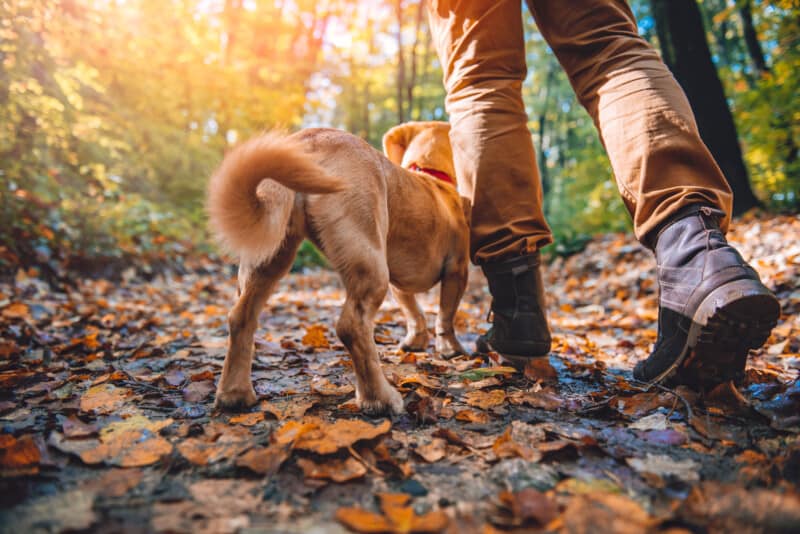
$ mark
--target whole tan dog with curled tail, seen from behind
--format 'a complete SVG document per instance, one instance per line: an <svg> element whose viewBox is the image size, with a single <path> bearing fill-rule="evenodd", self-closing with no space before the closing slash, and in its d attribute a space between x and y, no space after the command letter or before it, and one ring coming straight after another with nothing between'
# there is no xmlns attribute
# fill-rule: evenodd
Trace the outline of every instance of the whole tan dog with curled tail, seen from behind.
<svg viewBox="0 0 800 534"><path fill-rule="evenodd" d="M440 122L402 125L387 133L384 147L395 163L452 176L448 132ZM208 209L213 230L240 264L218 407L256 402L250 371L258 316L303 238L325 254L344 283L347 298L336 333L352 356L362 410L403 409L373 339L375 313L390 285L408 321L404 348L427 346L425 316L414 294L441 281L436 350L464 352L453 328L467 282L461 199L452 185L395 163L358 137L331 129L267 134L225 157L209 184Z"/></svg>

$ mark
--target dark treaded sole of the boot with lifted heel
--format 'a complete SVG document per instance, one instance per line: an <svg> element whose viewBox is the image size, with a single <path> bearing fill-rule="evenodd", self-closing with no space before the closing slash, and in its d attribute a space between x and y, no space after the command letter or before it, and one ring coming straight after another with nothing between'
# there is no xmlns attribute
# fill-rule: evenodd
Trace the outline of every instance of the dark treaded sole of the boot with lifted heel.
<svg viewBox="0 0 800 534"><path fill-rule="evenodd" d="M751 349L761 347L780 317L775 295L756 280L736 280L698 306L680 356L649 384L707 390L744 376Z"/></svg>

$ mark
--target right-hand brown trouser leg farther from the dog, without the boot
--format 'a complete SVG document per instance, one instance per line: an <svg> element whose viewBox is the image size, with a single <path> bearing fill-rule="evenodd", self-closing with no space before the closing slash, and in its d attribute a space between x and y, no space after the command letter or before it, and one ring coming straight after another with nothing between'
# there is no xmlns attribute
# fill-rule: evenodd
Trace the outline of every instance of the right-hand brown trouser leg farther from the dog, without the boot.
<svg viewBox="0 0 800 534"><path fill-rule="evenodd" d="M689 102L642 38L623 0L528 0L539 31L569 76L608 152L636 237L681 208L726 213L732 194L700 139Z"/></svg>

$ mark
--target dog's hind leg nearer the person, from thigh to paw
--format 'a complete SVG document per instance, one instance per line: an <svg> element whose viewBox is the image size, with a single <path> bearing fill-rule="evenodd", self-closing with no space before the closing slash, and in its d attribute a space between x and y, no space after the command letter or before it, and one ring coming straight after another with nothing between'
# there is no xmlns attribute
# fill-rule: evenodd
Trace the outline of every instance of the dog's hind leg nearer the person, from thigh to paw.
<svg viewBox="0 0 800 534"><path fill-rule="evenodd" d="M374 251L368 256L339 271L347 299L336 324L336 334L353 360L359 408L366 413L399 414L403 411L403 398L383 374L373 332L375 314L389 287L389 271L385 255Z"/></svg>

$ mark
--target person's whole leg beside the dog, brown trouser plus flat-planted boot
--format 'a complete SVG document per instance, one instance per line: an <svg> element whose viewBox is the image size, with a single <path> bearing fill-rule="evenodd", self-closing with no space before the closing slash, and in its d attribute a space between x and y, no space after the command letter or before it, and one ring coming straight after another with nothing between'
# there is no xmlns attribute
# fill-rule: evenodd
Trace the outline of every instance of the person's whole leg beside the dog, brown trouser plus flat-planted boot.
<svg viewBox="0 0 800 534"><path fill-rule="evenodd" d="M428 14L458 188L472 202L470 257L492 293L493 325L477 348L523 363L550 350L538 249L552 236L522 101L522 5L430 0Z"/></svg>

